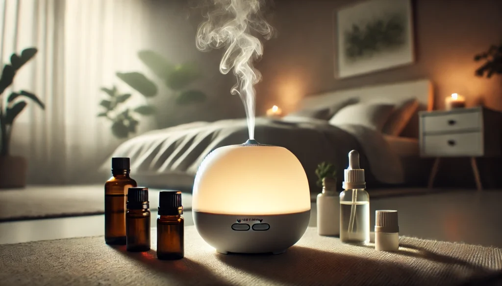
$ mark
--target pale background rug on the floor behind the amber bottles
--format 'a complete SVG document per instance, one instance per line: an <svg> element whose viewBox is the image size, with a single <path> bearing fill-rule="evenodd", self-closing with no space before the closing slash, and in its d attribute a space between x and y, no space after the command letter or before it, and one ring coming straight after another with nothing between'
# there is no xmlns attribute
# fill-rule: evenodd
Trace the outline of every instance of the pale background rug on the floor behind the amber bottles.
<svg viewBox="0 0 502 286"><path fill-rule="evenodd" d="M159 206L159 189L149 189L150 209ZM192 195L183 193L185 209ZM0 222L104 213L102 185L32 186L0 191Z"/></svg>

